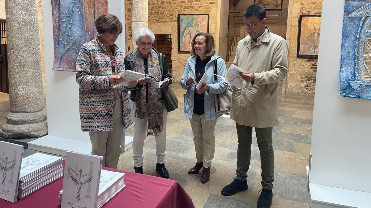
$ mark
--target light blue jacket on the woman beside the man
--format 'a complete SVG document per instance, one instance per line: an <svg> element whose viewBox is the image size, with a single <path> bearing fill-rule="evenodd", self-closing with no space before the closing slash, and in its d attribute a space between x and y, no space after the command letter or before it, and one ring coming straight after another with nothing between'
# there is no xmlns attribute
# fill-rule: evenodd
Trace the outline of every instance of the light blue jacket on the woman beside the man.
<svg viewBox="0 0 371 208"><path fill-rule="evenodd" d="M223 93L228 84L224 82L224 80L220 77L217 77L217 82L214 81L214 61L220 56L213 55L211 56L211 60L205 66L205 73L209 76L209 80L207 80L207 84L209 84L210 89L204 92L204 105L205 105L205 120L215 120L216 118L220 117L222 114L216 113L215 111L215 103L214 103L214 96L213 94ZM188 76L196 77L196 58L197 56L193 56L188 58L187 65L185 65L183 77L180 81L180 85L187 90L187 93L183 95L184 101L184 116L186 118L192 118L193 114L193 107L194 107L194 89L196 85L185 83L185 80ZM226 63L222 58L218 58L217 60L217 73L220 76L224 76L227 73Z"/></svg>

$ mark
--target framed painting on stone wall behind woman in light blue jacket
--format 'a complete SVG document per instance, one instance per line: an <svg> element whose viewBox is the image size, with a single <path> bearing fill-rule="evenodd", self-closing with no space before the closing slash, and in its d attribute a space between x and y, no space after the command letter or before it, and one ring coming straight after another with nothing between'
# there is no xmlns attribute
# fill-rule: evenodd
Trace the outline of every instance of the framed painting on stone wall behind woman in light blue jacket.
<svg viewBox="0 0 371 208"><path fill-rule="evenodd" d="M192 50L192 39L198 33L209 32L209 14L179 14L178 51Z"/></svg>

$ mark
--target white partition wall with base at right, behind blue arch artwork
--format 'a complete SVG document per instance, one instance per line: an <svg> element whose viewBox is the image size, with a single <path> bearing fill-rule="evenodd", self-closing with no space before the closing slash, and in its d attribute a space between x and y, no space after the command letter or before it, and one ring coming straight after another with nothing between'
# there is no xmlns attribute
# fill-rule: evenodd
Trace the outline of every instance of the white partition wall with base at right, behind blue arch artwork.
<svg viewBox="0 0 371 208"><path fill-rule="evenodd" d="M324 0L313 109L311 207L370 207L371 100L339 95L345 0Z"/></svg>

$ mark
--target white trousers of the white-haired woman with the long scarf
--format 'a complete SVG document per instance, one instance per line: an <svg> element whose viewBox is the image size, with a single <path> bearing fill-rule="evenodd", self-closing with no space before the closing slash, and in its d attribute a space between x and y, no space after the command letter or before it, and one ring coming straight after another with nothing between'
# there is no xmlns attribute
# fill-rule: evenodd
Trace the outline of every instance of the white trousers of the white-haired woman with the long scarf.
<svg viewBox="0 0 371 208"><path fill-rule="evenodd" d="M131 114L133 116L134 121L134 137L133 137L133 159L134 159L134 166L141 167L143 166L143 147L144 147L144 140L147 134L147 122L148 122L148 112L145 113L144 119L139 119L135 117L135 102L130 101L131 105ZM166 110L165 105L162 105L162 114L164 116L164 126L162 127L162 132L160 135L155 136L156 140L156 155L157 155L157 162L162 164L165 162L165 155L166 155L166 122L167 122L167 115L168 112Z"/></svg>

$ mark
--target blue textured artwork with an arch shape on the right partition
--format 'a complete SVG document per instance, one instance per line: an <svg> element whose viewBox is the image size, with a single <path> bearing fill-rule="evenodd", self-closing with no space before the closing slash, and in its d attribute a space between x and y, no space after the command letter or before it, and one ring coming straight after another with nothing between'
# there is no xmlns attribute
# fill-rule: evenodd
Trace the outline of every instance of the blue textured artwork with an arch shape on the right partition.
<svg viewBox="0 0 371 208"><path fill-rule="evenodd" d="M340 90L344 97L371 100L371 3L346 0L340 59Z"/></svg>

